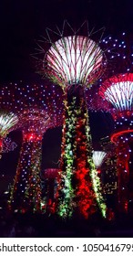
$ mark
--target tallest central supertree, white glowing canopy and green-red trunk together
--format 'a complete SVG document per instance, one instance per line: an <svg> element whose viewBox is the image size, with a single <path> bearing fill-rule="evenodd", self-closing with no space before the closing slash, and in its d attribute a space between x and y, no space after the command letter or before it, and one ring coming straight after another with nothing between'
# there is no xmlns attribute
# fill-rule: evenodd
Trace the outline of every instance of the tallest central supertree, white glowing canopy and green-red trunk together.
<svg viewBox="0 0 133 256"><path fill-rule="evenodd" d="M45 52L44 47L39 46L42 56L38 58L39 72L60 85L66 98L62 173L58 189L58 213L62 217L71 217L73 210L78 208L88 218L96 210L96 195L92 185L96 168L91 155L91 134L84 92L101 75L105 60L99 41L96 43L90 38L88 29L87 36L79 36L83 27L77 32L70 27L73 36L68 37L65 29L62 33L58 30L55 32L58 37L56 42L52 42L50 30L47 30L50 48ZM103 200L100 209L105 215Z"/></svg>

